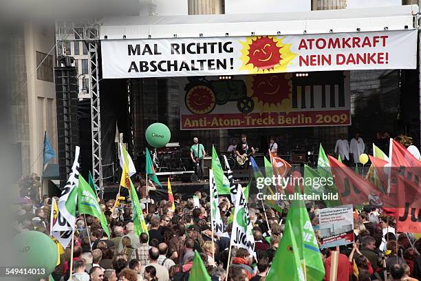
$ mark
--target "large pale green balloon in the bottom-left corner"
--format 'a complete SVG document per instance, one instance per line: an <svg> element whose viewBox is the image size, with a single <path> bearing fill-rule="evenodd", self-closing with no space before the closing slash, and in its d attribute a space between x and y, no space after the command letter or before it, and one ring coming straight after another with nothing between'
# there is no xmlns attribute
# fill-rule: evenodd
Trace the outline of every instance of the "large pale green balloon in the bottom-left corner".
<svg viewBox="0 0 421 281"><path fill-rule="evenodd" d="M38 268L39 276L48 276L56 267L56 243L39 231L23 231L13 238L19 267ZM44 270L44 271L42 271Z"/></svg>

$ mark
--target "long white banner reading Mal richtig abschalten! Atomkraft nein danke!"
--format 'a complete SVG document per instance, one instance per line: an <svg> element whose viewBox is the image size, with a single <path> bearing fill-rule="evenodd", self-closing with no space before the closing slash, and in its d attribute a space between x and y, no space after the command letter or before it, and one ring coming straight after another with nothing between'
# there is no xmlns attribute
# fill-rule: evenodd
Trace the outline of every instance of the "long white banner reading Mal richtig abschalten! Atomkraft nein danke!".
<svg viewBox="0 0 421 281"><path fill-rule="evenodd" d="M104 79L415 69L417 30L103 40Z"/></svg>

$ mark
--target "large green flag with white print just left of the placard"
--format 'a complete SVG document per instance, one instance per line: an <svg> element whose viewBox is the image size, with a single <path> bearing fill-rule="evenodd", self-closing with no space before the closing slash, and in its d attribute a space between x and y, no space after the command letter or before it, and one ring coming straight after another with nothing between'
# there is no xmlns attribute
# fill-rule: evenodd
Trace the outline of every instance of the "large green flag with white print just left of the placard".
<svg viewBox="0 0 421 281"><path fill-rule="evenodd" d="M301 193L298 186L296 186L295 193ZM307 280L322 280L325 275L325 267L319 251L319 244L317 244L316 236L314 235L312 222L303 200L292 201L286 221L293 222L292 233L295 236L300 259L305 260Z"/></svg>

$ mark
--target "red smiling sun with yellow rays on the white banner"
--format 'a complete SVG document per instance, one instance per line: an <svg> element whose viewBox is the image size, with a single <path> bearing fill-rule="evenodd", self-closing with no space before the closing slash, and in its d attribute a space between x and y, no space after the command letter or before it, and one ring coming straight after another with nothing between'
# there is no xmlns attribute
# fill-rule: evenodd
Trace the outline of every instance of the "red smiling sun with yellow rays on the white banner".
<svg viewBox="0 0 421 281"><path fill-rule="evenodd" d="M241 42L241 70L253 73L287 72L287 66L296 56L290 44L282 43L283 38L271 36L247 37Z"/></svg>

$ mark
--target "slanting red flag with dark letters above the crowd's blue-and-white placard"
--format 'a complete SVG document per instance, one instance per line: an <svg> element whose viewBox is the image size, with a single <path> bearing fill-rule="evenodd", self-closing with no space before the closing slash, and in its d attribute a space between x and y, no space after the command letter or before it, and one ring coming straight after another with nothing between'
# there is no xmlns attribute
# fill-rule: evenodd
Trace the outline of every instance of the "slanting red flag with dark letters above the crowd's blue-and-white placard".
<svg viewBox="0 0 421 281"><path fill-rule="evenodd" d="M382 207L383 205L390 204L387 197L378 191L368 180L356 174L345 164L336 160L336 158L332 156L328 157L338 194L341 197L343 205L358 205L369 202L373 207Z"/></svg>

